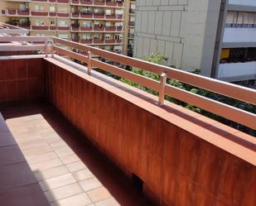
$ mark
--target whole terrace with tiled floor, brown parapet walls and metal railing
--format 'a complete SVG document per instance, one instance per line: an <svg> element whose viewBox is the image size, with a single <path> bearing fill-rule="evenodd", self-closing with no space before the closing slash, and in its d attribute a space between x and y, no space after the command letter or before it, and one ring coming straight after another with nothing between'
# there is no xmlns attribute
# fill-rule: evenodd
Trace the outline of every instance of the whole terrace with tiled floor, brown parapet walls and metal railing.
<svg viewBox="0 0 256 206"><path fill-rule="evenodd" d="M255 130L254 113L166 82L178 79L253 105L255 90L56 37L21 33L27 31L6 25L0 29L1 203L254 205L255 138L164 97ZM161 79L147 79L92 55L160 74Z"/></svg>

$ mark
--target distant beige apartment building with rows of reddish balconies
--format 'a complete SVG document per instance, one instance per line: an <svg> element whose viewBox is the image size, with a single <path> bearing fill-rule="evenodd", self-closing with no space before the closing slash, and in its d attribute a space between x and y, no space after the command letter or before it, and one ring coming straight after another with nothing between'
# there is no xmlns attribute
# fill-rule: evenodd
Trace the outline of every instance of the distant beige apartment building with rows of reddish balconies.
<svg viewBox="0 0 256 206"><path fill-rule="evenodd" d="M3 0L0 22L29 29L32 36L58 36L123 53L126 1Z"/></svg>

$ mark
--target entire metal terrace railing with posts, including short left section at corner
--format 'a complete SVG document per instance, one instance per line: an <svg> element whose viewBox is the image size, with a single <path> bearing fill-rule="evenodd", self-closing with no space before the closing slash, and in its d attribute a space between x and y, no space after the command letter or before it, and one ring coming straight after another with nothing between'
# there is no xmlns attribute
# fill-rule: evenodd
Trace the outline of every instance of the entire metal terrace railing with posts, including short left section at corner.
<svg viewBox="0 0 256 206"><path fill-rule="evenodd" d="M44 39L43 39L44 38ZM197 88L209 90L214 93L219 93L229 98L239 99L245 103L256 105L256 91L254 89L247 89L235 84L229 84L216 79L210 79L197 74L191 74L186 71L172 69L163 65L156 65L144 60L137 60L125 55L118 55L107 50L100 50L92 46L82 45L74 41L67 41L56 37L41 37L41 36L1 36L0 42L22 42L21 44L13 45L2 44L0 51L18 51L18 50L41 50L45 51L46 57L55 58L56 54L65 55L74 60L85 62L85 72L91 74L92 68L103 69L111 74L118 75L125 79L129 79L135 83L146 86L159 93L158 103L160 105L165 103L165 95L172 98L179 99L185 103L190 103L198 108L205 109L210 113L225 117L229 120L242 124L246 127L256 129L256 115L254 113L246 112L240 108L231 107L225 103L205 98L196 93L191 93L183 89L178 89L170 84L167 84L168 79L177 79L183 83L191 84ZM45 41L44 45L35 45L31 42ZM28 44L24 44L27 42ZM51 44L48 44L51 43ZM63 47L64 46L64 47ZM65 48L70 47L75 50L80 50L81 53L88 55L81 55ZM50 55L51 54L51 55ZM160 81L146 78L139 74L134 74L130 71L120 69L114 65L109 65L100 60L94 60L91 55L99 55L102 59L108 59L118 62L123 65L144 69L154 74L159 74Z"/></svg>

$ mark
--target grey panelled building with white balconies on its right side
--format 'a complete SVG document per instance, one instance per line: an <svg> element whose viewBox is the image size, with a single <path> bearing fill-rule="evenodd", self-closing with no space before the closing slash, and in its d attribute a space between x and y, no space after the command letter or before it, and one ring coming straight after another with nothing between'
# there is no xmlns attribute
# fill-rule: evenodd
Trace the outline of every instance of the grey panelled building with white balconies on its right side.
<svg viewBox="0 0 256 206"><path fill-rule="evenodd" d="M256 79L256 1L138 0L134 56L229 82Z"/></svg>

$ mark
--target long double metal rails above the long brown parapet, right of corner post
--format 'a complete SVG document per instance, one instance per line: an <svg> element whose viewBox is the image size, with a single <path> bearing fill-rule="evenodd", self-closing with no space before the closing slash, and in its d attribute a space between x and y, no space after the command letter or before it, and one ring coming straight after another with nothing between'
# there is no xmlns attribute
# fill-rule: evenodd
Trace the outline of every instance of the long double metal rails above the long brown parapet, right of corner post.
<svg viewBox="0 0 256 206"><path fill-rule="evenodd" d="M156 80L140 76L138 74L134 74L133 72L120 69L114 65L106 64L99 60L91 60L91 65L93 67L103 69L104 71L116 74L138 84L142 84L143 86L146 86L150 89L158 91L160 104L164 103L164 95L170 95L173 98L177 98L186 103L190 103L196 107L203 108L208 112L215 113L221 117L228 118L229 120L238 122L244 126L256 129L256 115L254 113L249 113L242 109L229 106L225 103L220 103L210 98L202 97L196 93L190 93L186 90L175 88L171 85L168 85L166 82L167 77L171 79L177 79L181 82L185 82L186 84L194 85L200 89L210 90L212 92L220 93L230 98L236 98L241 101L252 103L255 105L256 91L254 89L247 89L235 84L229 84L222 82L220 80L210 79L207 77L203 77L197 74L191 74L178 69L172 69L167 66L156 65L144 60L133 59L125 55L114 54L107 50L100 50L92 46L85 46L80 43L66 41L56 37L53 37L53 42L58 43L60 45L69 46L77 50L91 52L93 55L99 55L103 58L117 61L124 65L130 65L138 69L145 69L155 74L160 74L161 81L159 82ZM53 46L53 50L56 50L56 46ZM68 50L65 50L65 53L61 52L64 50L65 49L57 49L57 51L60 52L60 54L68 55L70 58L76 59L75 55L72 55ZM85 59L82 59L82 61L88 61L88 57L85 56Z"/></svg>

